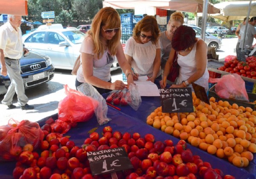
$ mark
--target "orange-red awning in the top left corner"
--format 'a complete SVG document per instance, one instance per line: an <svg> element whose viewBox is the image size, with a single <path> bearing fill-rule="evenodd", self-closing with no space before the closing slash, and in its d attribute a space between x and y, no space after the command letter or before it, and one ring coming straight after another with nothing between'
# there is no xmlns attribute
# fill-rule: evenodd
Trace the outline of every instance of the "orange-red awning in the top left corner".
<svg viewBox="0 0 256 179"><path fill-rule="evenodd" d="M0 14L28 15L28 1L0 0Z"/></svg>

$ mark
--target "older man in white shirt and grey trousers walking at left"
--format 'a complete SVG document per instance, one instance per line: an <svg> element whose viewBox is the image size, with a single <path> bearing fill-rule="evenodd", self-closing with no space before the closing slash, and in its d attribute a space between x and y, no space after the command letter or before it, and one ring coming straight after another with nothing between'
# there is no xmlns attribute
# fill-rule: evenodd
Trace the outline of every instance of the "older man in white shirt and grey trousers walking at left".
<svg viewBox="0 0 256 179"><path fill-rule="evenodd" d="M8 15L8 22L0 27L0 63L2 65L1 75L8 74L11 84L2 100L2 104L13 109L16 106L12 104L13 96L16 92L17 102L22 110L32 110L33 106L27 104L29 101L25 95L23 79L20 75L20 58L28 52L23 47L20 30L21 16Z"/></svg>

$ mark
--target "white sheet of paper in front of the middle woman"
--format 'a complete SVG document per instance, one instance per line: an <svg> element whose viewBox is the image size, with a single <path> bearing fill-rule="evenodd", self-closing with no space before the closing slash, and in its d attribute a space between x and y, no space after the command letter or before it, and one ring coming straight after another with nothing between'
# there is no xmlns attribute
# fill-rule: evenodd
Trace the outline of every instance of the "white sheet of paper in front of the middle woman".
<svg viewBox="0 0 256 179"><path fill-rule="evenodd" d="M139 88L140 96L160 96L156 84L136 84Z"/></svg>

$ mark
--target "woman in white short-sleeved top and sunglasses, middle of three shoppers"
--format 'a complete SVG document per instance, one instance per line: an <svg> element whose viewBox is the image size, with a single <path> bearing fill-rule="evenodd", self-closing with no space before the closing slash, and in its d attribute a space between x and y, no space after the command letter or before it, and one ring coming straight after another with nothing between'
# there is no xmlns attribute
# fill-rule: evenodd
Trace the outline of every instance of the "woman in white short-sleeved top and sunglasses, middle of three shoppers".
<svg viewBox="0 0 256 179"><path fill-rule="evenodd" d="M147 15L133 29L133 36L125 45L125 57L138 75L147 75L148 81L161 79L159 28L154 16ZM134 75L134 80L138 76ZM156 81L157 82L157 81Z"/></svg>

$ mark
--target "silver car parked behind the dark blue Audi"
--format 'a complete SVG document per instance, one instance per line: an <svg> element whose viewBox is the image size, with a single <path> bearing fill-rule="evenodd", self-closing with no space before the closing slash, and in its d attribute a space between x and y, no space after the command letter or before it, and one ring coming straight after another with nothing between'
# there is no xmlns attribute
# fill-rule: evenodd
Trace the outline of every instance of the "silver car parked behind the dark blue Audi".
<svg viewBox="0 0 256 179"><path fill-rule="evenodd" d="M23 44L32 52L49 56L56 69L73 69L85 34L75 29L43 29L23 36ZM117 61L111 71L118 69Z"/></svg>

